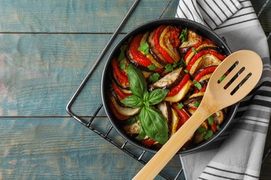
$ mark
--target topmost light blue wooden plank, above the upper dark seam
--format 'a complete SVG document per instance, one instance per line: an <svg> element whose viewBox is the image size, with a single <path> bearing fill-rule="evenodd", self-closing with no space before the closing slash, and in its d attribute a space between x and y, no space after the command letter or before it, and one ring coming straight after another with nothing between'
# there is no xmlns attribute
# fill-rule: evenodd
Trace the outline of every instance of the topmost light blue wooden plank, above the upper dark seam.
<svg viewBox="0 0 271 180"><path fill-rule="evenodd" d="M167 1L140 1L123 32L156 19ZM176 4L165 13L174 17ZM0 1L0 32L112 33L133 4L129 1Z"/></svg>

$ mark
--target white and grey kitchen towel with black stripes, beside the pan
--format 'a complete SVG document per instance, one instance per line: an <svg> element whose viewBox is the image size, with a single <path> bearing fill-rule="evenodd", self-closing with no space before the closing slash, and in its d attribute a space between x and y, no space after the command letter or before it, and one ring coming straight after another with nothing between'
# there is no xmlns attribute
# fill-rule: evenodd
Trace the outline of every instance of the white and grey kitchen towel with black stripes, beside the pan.
<svg viewBox="0 0 271 180"><path fill-rule="evenodd" d="M240 102L222 136L204 150L181 155L186 179L259 179L271 114L268 42L247 0L180 0L176 17L197 21L225 37L231 51L248 49L263 60L256 88Z"/></svg>

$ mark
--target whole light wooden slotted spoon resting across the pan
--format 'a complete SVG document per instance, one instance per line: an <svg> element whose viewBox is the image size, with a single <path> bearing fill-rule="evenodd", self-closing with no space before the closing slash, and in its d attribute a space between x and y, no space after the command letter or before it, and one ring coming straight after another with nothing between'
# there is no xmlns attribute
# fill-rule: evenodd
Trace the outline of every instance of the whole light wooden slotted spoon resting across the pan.
<svg viewBox="0 0 271 180"><path fill-rule="evenodd" d="M220 82L222 75L229 72L229 69L231 69L230 73ZM253 51L237 51L223 60L213 72L204 98L195 114L163 145L161 150L133 179L154 179L206 118L245 98L260 80L262 71L261 57ZM236 76L238 77L236 78Z"/></svg>

